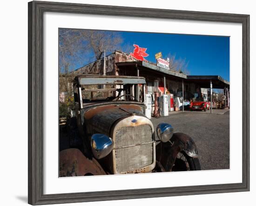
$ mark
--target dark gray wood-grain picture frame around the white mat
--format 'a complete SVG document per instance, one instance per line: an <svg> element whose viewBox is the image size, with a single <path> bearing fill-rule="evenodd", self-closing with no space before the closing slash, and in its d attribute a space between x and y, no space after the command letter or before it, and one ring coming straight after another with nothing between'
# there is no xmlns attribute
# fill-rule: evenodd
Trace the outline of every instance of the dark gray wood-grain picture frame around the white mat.
<svg viewBox="0 0 256 206"><path fill-rule="evenodd" d="M243 182L43 194L43 13L83 13L241 23L243 26ZM58 149L58 148L56 148ZM32 1L28 3L28 203L31 205L249 191L249 15Z"/></svg>

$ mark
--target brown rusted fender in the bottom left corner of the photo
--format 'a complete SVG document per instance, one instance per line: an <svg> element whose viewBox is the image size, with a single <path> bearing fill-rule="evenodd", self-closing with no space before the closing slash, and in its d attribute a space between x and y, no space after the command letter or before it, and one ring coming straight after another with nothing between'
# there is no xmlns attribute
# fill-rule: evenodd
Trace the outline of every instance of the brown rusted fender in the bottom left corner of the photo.
<svg viewBox="0 0 256 206"><path fill-rule="evenodd" d="M79 149L62 150L59 161L59 177L107 174L96 159L86 158Z"/></svg>

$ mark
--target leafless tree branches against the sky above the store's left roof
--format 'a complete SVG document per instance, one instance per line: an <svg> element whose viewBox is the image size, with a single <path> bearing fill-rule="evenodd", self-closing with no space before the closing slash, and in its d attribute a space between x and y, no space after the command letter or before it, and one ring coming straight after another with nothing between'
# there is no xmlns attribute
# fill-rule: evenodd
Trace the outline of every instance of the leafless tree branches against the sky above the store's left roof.
<svg viewBox="0 0 256 206"><path fill-rule="evenodd" d="M88 61L101 59L104 50L112 53L121 47L119 33L100 30L60 29L59 35L59 69L72 71Z"/></svg>

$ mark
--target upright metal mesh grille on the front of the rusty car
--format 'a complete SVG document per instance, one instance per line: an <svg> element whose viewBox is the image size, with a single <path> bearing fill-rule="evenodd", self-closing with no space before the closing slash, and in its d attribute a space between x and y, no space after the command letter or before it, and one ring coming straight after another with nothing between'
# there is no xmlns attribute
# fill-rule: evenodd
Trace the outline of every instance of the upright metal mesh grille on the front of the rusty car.
<svg viewBox="0 0 256 206"><path fill-rule="evenodd" d="M152 129L150 125L127 126L115 133L116 172L135 171L153 162Z"/></svg>

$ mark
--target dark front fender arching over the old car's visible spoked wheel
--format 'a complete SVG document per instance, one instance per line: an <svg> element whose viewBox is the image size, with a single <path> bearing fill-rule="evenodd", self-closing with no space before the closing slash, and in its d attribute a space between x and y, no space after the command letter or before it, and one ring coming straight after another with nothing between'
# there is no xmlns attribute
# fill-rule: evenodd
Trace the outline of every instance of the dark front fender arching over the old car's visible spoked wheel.
<svg viewBox="0 0 256 206"><path fill-rule="evenodd" d="M171 171L177 154L181 151L189 157L198 158L194 140L187 134L174 133L170 141L161 142L156 146L156 160L162 164L166 172Z"/></svg>

